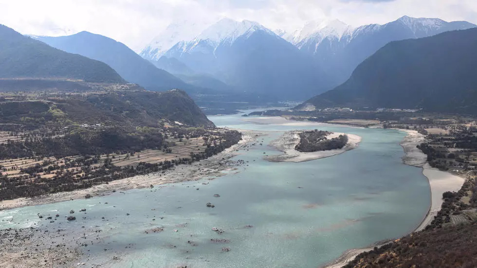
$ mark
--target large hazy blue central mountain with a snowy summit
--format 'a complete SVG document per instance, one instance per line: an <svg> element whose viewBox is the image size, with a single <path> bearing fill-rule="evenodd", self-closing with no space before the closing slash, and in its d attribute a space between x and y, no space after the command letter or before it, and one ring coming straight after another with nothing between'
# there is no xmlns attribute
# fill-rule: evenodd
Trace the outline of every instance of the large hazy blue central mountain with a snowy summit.
<svg viewBox="0 0 477 268"><path fill-rule="evenodd" d="M238 89L283 99L310 96L326 79L306 54L246 20L222 19L197 38L177 43L165 56Z"/></svg>

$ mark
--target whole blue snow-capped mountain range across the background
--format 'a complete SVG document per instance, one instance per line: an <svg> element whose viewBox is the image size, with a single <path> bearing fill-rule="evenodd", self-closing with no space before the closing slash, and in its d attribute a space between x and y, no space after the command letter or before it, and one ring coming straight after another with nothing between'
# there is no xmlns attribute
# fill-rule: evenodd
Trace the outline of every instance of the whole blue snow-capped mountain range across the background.
<svg viewBox="0 0 477 268"><path fill-rule="evenodd" d="M171 42L156 38L141 55L184 80L205 75L246 92L303 99L343 83L358 64L391 41L473 27L465 21L405 16L357 28L339 20L312 21L286 33L253 21L225 18L166 52ZM172 36L174 41L181 37ZM186 36L192 36L191 31ZM160 53L145 53L155 49Z"/></svg>

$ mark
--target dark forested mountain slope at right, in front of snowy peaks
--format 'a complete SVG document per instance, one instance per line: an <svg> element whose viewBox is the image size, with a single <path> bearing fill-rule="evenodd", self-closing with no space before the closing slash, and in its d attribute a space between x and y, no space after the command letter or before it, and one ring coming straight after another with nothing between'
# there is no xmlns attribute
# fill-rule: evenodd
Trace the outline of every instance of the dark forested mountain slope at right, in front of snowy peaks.
<svg viewBox="0 0 477 268"><path fill-rule="evenodd" d="M391 42L344 84L305 104L476 113L476 47L476 28Z"/></svg>

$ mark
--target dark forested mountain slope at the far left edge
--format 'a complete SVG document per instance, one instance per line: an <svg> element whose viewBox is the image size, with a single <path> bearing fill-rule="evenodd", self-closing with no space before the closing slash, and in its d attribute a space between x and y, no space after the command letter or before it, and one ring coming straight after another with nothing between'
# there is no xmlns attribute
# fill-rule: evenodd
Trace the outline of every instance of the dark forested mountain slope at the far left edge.
<svg viewBox="0 0 477 268"><path fill-rule="evenodd" d="M60 51L4 25L0 25L0 78L125 82L103 62Z"/></svg>

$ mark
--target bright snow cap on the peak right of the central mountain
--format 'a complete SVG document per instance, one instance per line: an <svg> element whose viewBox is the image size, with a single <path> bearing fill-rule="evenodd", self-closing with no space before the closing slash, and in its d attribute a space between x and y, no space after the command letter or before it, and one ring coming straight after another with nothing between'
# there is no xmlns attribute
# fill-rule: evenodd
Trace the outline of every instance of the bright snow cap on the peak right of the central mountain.
<svg viewBox="0 0 477 268"><path fill-rule="evenodd" d="M352 27L338 19L313 20L305 24L302 29L296 30L292 35L284 36L285 39L296 45L307 38L321 38L332 36L340 39Z"/></svg>

